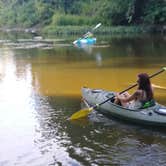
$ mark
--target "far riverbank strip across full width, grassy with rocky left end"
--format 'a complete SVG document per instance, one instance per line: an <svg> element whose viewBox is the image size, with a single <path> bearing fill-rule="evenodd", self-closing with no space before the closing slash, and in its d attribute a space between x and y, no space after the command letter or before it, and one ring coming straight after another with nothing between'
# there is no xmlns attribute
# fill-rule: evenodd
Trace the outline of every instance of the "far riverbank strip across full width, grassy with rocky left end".
<svg viewBox="0 0 166 166"><path fill-rule="evenodd" d="M46 35L82 35L92 30L92 26L46 26L46 27L31 27L31 28L6 28L1 27L2 32L25 32ZM166 26L101 26L94 31L95 34L114 35L114 34L166 34Z"/></svg>

